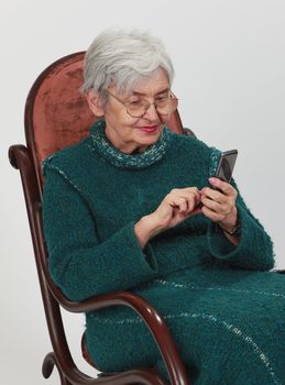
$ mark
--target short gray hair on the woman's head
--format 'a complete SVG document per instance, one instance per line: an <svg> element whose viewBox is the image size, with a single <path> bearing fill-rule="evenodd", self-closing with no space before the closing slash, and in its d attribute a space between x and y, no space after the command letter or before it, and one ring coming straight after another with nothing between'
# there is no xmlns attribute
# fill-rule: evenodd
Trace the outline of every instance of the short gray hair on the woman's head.
<svg viewBox="0 0 285 385"><path fill-rule="evenodd" d="M118 92L131 91L143 77L158 68L165 70L171 85L172 61L158 38L138 30L106 30L86 53L81 91L91 88L103 95L111 86L116 86Z"/></svg>

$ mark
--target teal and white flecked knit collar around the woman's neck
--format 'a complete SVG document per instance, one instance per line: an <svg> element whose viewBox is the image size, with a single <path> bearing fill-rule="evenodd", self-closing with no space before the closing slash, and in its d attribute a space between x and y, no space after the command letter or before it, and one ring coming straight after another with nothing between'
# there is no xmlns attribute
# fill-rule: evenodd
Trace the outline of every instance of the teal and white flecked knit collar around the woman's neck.
<svg viewBox="0 0 285 385"><path fill-rule="evenodd" d="M92 146L106 161L121 168L145 168L158 162L166 153L172 132L164 127L158 140L142 154L124 154L117 150L105 135L105 120L97 121L90 131Z"/></svg>

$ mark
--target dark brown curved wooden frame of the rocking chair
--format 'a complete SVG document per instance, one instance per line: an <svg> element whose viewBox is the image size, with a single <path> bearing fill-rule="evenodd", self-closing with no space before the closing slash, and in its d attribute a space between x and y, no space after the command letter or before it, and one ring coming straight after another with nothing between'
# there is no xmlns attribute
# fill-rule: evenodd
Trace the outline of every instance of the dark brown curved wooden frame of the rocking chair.
<svg viewBox="0 0 285 385"><path fill-rule="evenodd" d="M62 385L124 385L124 384L144 384L144 385L166 385L158 371L152 369L138 369L125 371L123 373L101 373L97 378L92 378L80 372L72 358L68 343L65 336L61 307L72 312L87 312L110 306L128 306L132 308L146 323L152 333L162 358L165 362L171 385L190 385L187 377L185 365L179 356L175 341L171 332L157 314L157 311L146 302L145 299L129 292L116 292L106 295L99 295L81 302L68 300L58 287L53 283L47 267L47 250L44 242L42 228L42 176L36 140L33 127L33 109L37 91L44 79L58 68L76 61L83 62L85 53L76 53L65 56L47 67L35 80L26 99L25 106L25 145L12 145L9 148L9 158L11 165L20 169L21 180L25 197L28 218L33 241L33 249L42 299L45 309L45 317L53 352L48 353L43 362L42 373L48 378L54 366L57 367ZM182 130L182 123L178 112L175 114L175 121ZM188 131L187 133L190 133ZM84 339L83 339L84 341ZM83 343L84 356L89 361L88 354ZM90 361L89 361L90 362ZM94 365L95 366L95 365Z"/></svg>

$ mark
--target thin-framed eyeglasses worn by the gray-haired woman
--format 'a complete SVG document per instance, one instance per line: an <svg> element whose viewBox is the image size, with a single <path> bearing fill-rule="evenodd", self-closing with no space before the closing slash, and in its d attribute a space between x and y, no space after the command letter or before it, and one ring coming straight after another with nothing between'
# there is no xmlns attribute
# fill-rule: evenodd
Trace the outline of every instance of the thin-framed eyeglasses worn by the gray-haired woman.
<svg viewBox="0 0 285 385"><path fill-rule="evenodd" d="M177 109L178 106L178 99L171 90L167 91L167 96L156 98L153 103L150 103L145 99L138 99L135 101L122 101L117 98L117 96L108 91L108 89L106 92L118 100L121 105L123 105L127 113L132 118L142 118L152 105L155 107L156 112L161 116L171 114Z"/></svg>

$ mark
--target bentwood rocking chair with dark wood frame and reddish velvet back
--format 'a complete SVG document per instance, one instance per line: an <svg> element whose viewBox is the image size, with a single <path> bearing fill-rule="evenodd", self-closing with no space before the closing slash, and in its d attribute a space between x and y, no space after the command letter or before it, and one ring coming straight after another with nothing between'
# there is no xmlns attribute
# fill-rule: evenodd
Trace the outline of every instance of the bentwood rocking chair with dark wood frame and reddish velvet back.
<svg viewBox="0 0 285 385"><path fill-rule="evenodd" d="M97 378L79 371L72 358L65 336L61 307L72 312L87 312L121 305L132 308L146 323L164 363L171 385L190 385L176 344L164 320L143 298L128 292L99 295L83 302L68 300L51 279L42 229L42 160L52 153L87 136L96 117L90 112L85 98L79 92L83 82L84 52L65 56L47 67L35 80L25 106L26 146L13 145L9 150L10 163L20 169L25 196L28 217L33 240L35 262L45 308L47 328L53 352L43 362L42 373L48 378L54 366L59 372L62 385L166 385L154 367L140 367L123 373L100 373ZM182 134L193 134L183 130L176 111L165 123ZM83 337L84 358L91 362ZM168 384L168 383L167 383Z"/></svg>

